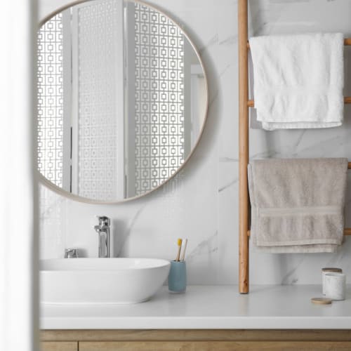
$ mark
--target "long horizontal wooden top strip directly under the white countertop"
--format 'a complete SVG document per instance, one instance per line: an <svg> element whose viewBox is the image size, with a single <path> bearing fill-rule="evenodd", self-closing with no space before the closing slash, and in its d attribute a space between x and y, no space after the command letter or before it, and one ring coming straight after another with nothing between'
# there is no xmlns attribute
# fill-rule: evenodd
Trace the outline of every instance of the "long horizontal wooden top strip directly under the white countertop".
<svg viewBox="0 0 351 351"><path fill-rule="evenodd" d="M40 331L42 341L350 341L351 330L82 329ZM351 350L351 349L350 349Z"/></svg>

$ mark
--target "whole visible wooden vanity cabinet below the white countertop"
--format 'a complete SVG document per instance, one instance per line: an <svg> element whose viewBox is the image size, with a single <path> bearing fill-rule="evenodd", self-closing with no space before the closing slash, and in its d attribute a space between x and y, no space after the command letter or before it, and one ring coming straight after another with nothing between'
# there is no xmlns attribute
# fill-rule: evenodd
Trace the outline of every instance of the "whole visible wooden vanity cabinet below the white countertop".
<svg viewBox="0 0 351 351"><path fill-rule="evenodd" d="M351 330L45 330L41 351L351 350Z"/></svg>

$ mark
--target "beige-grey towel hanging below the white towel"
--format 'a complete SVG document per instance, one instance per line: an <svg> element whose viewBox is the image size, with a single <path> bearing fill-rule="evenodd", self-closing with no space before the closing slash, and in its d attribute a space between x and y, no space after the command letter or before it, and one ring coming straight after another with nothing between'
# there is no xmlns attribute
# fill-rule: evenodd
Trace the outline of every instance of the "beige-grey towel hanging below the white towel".
<svg viewBox="0 0 351 351"><path fill-rule="evenodd" d="M266 159L248 166L258 251L335 252L343 242L347 159Z"/></svg>

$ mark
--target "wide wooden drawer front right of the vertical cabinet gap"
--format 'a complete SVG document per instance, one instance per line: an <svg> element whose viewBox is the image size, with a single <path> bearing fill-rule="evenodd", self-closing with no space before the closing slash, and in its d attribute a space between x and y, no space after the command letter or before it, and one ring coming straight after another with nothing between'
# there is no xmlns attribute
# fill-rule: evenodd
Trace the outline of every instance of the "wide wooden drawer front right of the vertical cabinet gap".
<svg viewBox="0 0 351 351"><path fill-rule="evenodd" d="M79 351L311 351L351 350L348 341L100 341L80 342Z"/></svg>

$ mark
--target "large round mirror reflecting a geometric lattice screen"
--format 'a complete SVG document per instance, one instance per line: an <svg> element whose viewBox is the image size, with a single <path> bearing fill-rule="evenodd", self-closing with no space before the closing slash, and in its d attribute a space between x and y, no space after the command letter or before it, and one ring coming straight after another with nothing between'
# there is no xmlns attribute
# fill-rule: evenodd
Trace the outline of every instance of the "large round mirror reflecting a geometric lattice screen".
<svg viewBox="0 0 351 351"><path fill-rule="evenodd" d="M91 0L38 32L41 180L80 201L140 197L174 176L201 137L206 74L173 20L140 1Z"/></svg>

